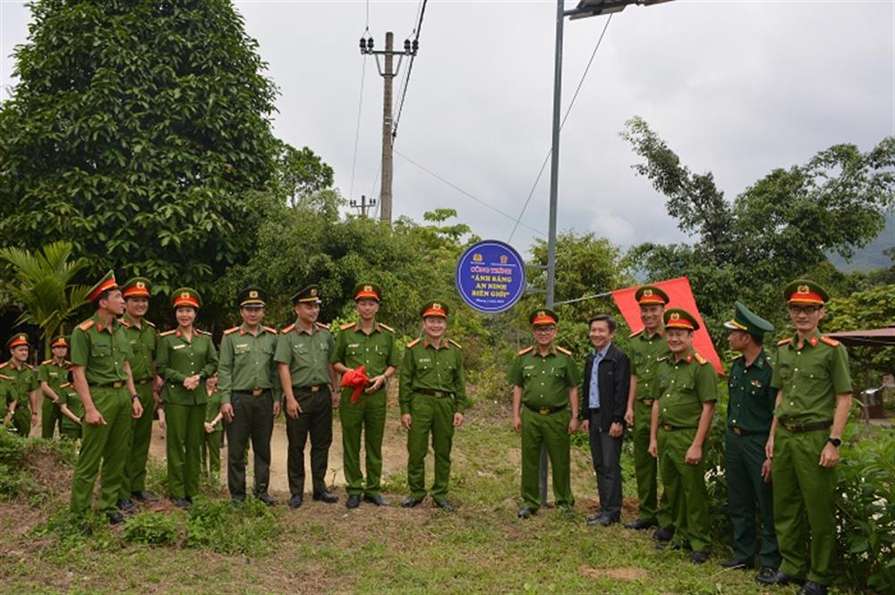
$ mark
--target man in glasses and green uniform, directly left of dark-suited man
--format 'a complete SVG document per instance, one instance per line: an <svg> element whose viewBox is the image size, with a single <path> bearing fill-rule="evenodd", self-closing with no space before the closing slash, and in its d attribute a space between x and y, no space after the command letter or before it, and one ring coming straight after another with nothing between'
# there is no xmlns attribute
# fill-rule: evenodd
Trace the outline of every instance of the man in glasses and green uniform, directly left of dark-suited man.
<svg viewBox="0 0 895 595"><path fill-rule="evenodd" d="M553 469L553 494L564 514L575 498L569 465L569 436L578 429L578 370L572 353L553 344L558 316L541 308L528 317L534 345L516 355L507 379L513 385L513 429L522 432L522 508L519 518L538 512L541 448L547 447Z"/></svg>

